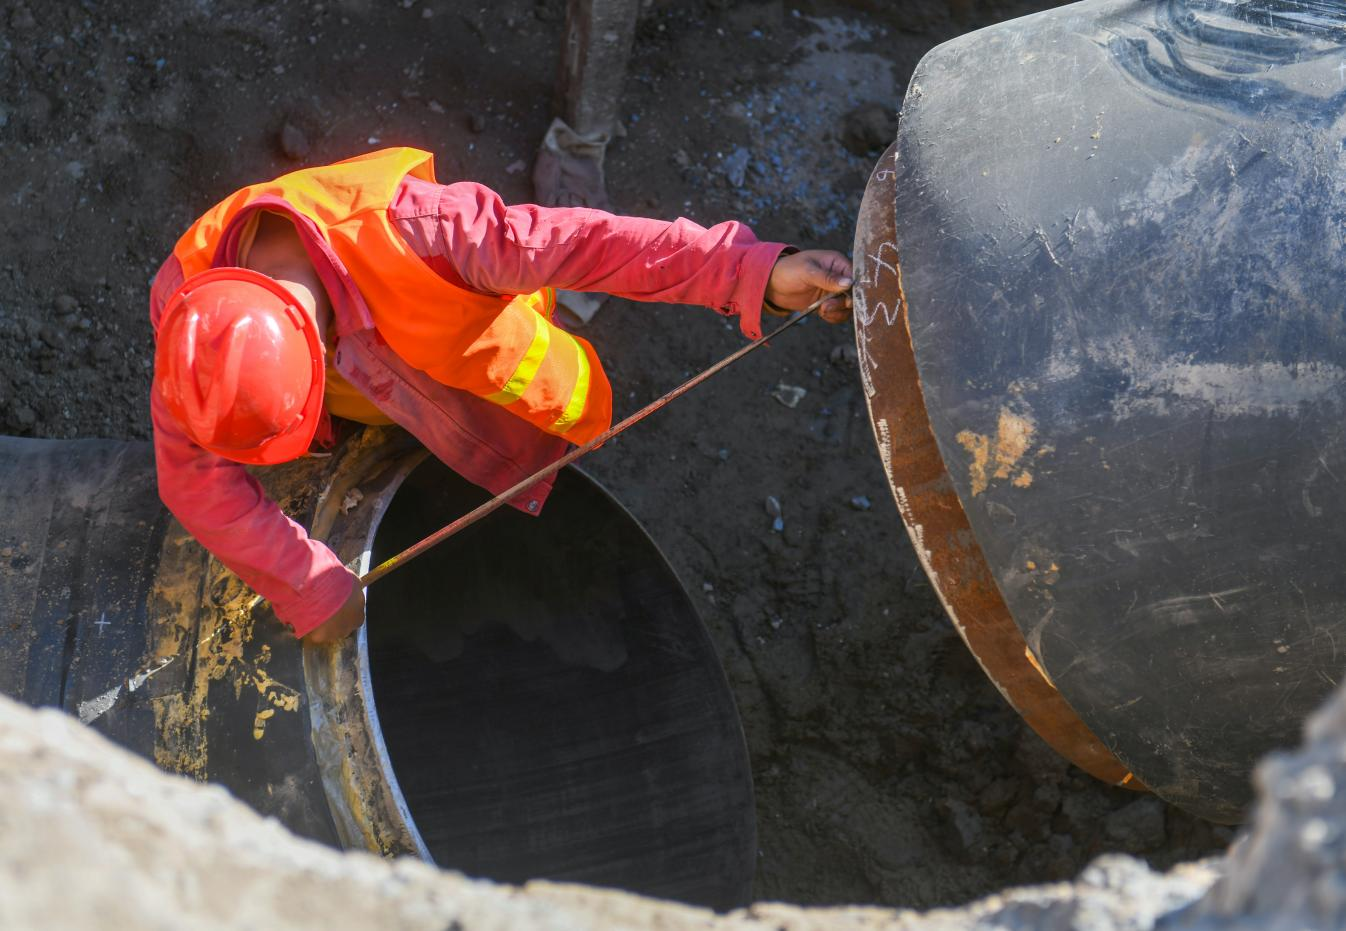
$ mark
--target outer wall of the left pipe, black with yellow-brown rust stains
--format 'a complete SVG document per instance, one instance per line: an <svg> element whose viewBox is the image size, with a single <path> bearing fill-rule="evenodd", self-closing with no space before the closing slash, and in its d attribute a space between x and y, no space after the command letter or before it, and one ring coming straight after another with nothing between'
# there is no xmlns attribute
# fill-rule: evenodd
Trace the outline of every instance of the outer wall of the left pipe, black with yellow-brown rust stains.
<svg viewBox="0 0 1346 931"><path fill-rule="evenodd" d="M370 428L256 470L361 572L425 457ZM428 860L384 747L363 635L308 647L168 513L153 448L0 437L0 693L63 708L164 770L326 844Z"/></svg>

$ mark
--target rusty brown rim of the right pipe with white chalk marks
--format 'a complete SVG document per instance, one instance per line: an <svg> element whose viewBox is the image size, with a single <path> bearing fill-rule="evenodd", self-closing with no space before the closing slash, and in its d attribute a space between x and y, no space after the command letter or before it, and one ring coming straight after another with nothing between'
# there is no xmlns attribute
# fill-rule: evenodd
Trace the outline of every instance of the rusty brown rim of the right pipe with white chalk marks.
<svg viewBox="0 0 1346 931"><path fill-rule="evenodd" d="M870 176L855 234L860 379L898 513L958 636L987 678L1061 756L1092 776L1144 786L1047 678L1010 615L930 428L911 346L896 242L894 143Z"/></svg>

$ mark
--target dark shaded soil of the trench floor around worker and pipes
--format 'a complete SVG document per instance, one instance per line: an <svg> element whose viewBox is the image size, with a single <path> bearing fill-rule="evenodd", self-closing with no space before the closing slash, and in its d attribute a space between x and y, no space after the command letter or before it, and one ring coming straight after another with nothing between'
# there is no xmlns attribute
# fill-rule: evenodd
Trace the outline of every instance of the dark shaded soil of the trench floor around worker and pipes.
<svg viewBox="0 0 1346 931"><path fill-rule="evenodd" d="M1034 8L646 0L614 203L848 252L921 54ZM148 281L241 184L415 144L441 180L529 199L563 19L560 0L0 0L0 432L148 436ZM616 300L586 335L619 413L740 342L707 311ZM1109 850L1167 866L1224 846L1228 829L1059 760L985 681L891 505L852 339L810 322L590 466L720 650L756 896L929 907Z"/></svg>

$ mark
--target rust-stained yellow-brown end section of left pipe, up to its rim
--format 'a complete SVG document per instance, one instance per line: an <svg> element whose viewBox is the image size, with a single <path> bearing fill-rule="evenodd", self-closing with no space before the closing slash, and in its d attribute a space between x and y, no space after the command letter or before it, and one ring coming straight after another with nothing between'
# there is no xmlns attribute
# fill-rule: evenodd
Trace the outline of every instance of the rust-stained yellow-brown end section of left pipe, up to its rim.
<svg viewBox="0 0 1346 931"><path fill-rule="evenodd" d="M362 572L388 505L425 456L405 432L369 428L331 457L307 457L254 475L292 519L310 527L312 538ZM310 837L429 860L378 727L363 628L358 638L330 647L295 640L269 605L258 604L175 521L159 554L145 626L148 650L139 675L149 670L153 677L145 692L155 716L153 759L162 768L223 782ZM242 705L252 701L253 689L258 697L249 740L244 718L252 709ZM307 735L300 729L304 710ZM238 724L230 724L236 718ZM311 748L296 743L304 736ZM257 749L240 749L249 743ZM232 771L219 761L217 744L225 745L226 757L253 753L245 766L267 772ZM314 798L318 786L324 799ZM287 802L287 792L303 798ZM330 825L316 811L323 800Z"/></svg>

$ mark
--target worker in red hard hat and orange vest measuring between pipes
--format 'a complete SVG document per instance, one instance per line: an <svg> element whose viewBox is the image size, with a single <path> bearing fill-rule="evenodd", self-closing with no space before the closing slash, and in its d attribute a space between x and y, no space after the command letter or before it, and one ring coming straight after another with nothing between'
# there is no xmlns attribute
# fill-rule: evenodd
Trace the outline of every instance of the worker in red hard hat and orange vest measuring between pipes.
<svg viewBox="0 0 1346 931"><path fill-rule="evenodd" d="M505 206L439 184L393 148L221 200L151 287L159 494L221 562L310 642L365 618L358 576L269 500L245 466L330 447L336 422L398 424L499 494L611 421L607 375L552 319L552 288L703 304L759 335L762 311L849 316L851 264L588 209ZM510 503L541 510L551 483Z"/></svg>

